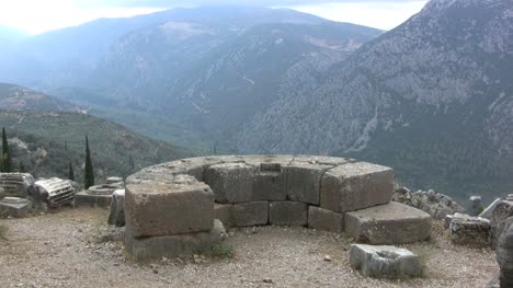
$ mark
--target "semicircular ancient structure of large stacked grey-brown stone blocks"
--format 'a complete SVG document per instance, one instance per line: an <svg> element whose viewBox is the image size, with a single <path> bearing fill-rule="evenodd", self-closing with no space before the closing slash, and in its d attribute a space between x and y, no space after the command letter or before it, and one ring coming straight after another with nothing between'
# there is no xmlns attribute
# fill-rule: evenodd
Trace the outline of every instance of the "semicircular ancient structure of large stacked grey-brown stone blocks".
<svg viewBox="0 0 513 288"><path fill-rule="evenodd" d="M345 158L176 160L146 168L126 180L125 246L135 260L146 261L212 246L223 239L224 227L304 226L342 232L346 212L389 204L392 191L394 170ZM422 221L425 216L420 215ZM373 229L380 227L376 220ZM400 222L400 217L395 220ZM400 229L400 223L395 227ZM381 242L402 242L394 241Z"/></svg>

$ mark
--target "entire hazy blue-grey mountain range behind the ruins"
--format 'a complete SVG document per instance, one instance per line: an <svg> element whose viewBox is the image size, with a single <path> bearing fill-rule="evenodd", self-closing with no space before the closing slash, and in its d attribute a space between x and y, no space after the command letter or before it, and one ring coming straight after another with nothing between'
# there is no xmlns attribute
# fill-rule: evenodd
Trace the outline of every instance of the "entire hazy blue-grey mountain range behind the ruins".
<svg viewBox="0 0 513 288"><path fill-rule="evenodd" d="M350 155L492 197L513 189L512 34L510 0L431 0L389 32L175 9L29 37L0 80L200 150Z"/></svg>

